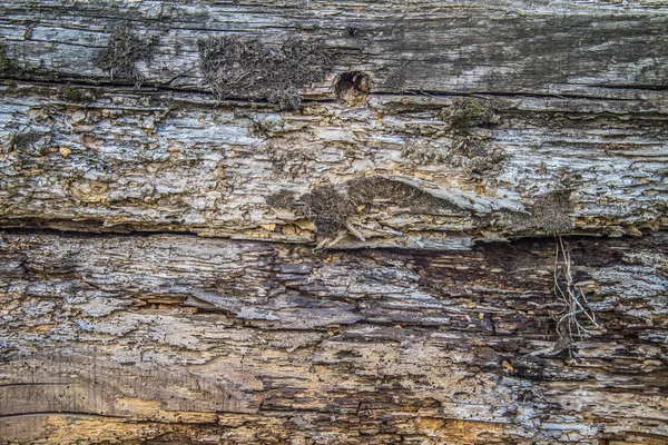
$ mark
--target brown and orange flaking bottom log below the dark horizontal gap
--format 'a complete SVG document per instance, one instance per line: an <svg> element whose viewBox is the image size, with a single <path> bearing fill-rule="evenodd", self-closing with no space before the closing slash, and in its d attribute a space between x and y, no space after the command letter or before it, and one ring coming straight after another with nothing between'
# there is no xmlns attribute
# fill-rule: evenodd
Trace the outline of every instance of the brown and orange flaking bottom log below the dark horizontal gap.
<svg viewBox="0 0 668 445"><path fill-rule="evenodd" d="M2 443L664 444L668 244L461 253L9 233Z"/></svg>

